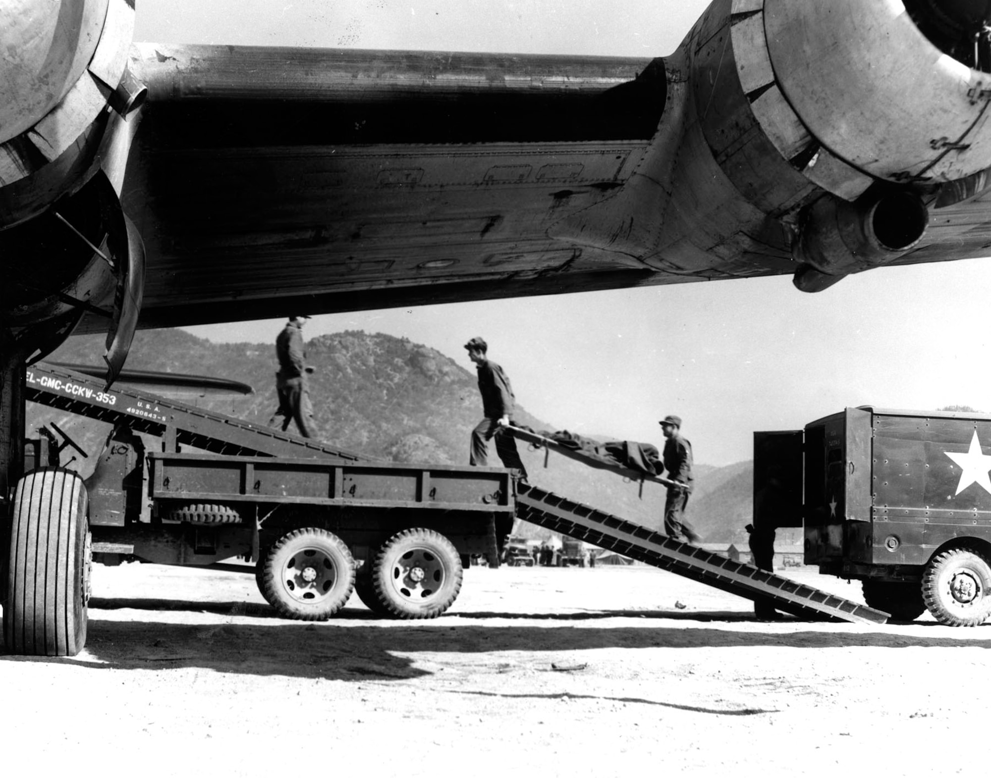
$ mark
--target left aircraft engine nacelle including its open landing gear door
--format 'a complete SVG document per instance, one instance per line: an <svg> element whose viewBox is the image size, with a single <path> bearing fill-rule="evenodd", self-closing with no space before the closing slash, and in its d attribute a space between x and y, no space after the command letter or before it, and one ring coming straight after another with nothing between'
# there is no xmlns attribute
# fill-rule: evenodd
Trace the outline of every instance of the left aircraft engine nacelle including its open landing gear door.
<svg viewBox="0 0 991 778"><path fill-rule="evenodd" d="M119 201L147 94L128 70L134 15L133 0L0 3L4 326L38 358L84 313L105 317L108 382L144 284L144 248Z"/></svg>

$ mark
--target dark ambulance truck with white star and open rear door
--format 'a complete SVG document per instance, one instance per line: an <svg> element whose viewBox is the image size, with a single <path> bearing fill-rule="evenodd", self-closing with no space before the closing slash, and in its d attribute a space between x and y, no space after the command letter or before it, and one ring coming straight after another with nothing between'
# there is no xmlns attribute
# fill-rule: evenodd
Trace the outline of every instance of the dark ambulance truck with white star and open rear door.
<svg viewBox="0 0 991 778"><path fill-rule="evenodd" d="M754 434L754 524L804 527L806 564L896 619L973 627L991 613L989 471L989 415L847 408Z"/></svg>

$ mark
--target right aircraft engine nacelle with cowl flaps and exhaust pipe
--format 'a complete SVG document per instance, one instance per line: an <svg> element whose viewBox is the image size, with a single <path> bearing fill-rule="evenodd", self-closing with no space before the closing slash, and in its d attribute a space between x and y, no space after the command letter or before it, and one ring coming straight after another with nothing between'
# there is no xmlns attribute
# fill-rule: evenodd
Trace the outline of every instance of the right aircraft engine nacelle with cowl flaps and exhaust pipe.
<svg viewBox="0 0 991 778"><path fill-rule="evenodd" d="M716 0L700 20L686 41L695 121L761 240L773 246L768 218L784 228L800 289L901 256L928 207L986 186L989 20L985 0ZM715 181L697 169L672 188L707 201ZM741 205L719 220L727 236L760 224Z"/></svg>

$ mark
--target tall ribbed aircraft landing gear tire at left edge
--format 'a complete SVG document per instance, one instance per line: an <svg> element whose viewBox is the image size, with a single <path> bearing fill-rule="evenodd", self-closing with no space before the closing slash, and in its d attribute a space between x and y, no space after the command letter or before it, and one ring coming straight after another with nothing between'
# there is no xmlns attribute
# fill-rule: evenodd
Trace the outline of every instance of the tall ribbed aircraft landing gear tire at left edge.
<svg viewBox="0 0 991 778"><path fill-rule="evenodd" d="M75 656L86 644L88 510L82 478L69 470L34 470L18 482L3 604L10 653Z"/></svg>

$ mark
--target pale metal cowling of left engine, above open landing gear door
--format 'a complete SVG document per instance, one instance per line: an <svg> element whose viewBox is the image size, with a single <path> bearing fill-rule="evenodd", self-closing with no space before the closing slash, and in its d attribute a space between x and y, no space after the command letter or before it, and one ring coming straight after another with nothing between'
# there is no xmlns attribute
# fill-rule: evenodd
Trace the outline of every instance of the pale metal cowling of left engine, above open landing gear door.
<svg viewBox="0 0 991 778"><path fill-rule="evenodd" d="M127 67L134 15L129 0L0 3L0 231L121 156L106 109L125 117L144 101Z"/></svg>

